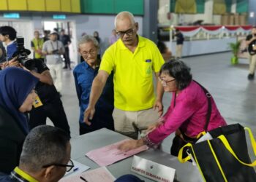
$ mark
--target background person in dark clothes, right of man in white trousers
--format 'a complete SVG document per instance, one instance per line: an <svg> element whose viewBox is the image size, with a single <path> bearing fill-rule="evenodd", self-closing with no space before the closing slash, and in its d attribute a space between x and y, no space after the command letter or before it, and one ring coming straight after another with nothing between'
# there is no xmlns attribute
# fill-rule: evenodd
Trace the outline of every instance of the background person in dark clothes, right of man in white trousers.
<svg viewBox="0 0 256 182"><path fill-rule="evenodd" d="M64 69L69 68L69 70L71 70L70 58L69 58L69 44L71 44L71 40L70 40L69 35L65 34L64 29L61 29L60 40L61 40L62 44L65 47L65 54L64 54L65 66L64 66Z"/></svg>

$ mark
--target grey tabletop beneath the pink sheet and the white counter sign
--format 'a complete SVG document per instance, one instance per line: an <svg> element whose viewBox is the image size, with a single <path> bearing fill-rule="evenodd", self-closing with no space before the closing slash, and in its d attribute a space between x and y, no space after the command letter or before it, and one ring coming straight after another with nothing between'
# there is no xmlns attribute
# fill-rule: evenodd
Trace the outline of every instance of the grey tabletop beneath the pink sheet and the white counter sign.
<svg viewBox="0 0 256 182"><path fill-rule="evenodd" d="M85 156L88 151L99 149L103 146L108 146L111 143L116 143L126 139L127 136L121 135L117 132L113 132L108 129L101 129L95 132L90 132L85 135L80 135L71 139L71 158L76 161L88 165L91 169L99 167L95 162ZM151 161L157 162L168 167L173 167L176 169L176 180L180 182L201 182L202 178L197 170L197 167L193 166L192 163L187 162L181 164L178 162L176 157L171 156L160 150L149 149L148 151L143 151L137 154L139 157L149 159ZM116 178L121 175L131 174L130 170L132 166L132 157L116 162L113 165L109 165L107 168ZM136 173L132 173L137 175ZM137 175L140 179L144 181L151 181L148 178L144 178L141 175Z"/></svg>

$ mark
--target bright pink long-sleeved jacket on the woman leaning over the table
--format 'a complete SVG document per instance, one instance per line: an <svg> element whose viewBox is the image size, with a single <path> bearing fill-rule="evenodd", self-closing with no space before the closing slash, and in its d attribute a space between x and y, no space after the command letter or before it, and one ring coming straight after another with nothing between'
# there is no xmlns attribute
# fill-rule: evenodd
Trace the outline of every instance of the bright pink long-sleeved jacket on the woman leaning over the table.
<svg viewBox="0 0 256 182"><path fill-rule="evenodd" d="M176 98L176 99L175 99ZM170 107L163 116L164 124L148 133L148 140L152 143L160 143L178 128L190 137L197 136L204 130L208 101L203 89L194 81L178 93L173 92ZM208 130L226 125L225 120L219 114L218 108L211 97L211 119Z"/></svg>

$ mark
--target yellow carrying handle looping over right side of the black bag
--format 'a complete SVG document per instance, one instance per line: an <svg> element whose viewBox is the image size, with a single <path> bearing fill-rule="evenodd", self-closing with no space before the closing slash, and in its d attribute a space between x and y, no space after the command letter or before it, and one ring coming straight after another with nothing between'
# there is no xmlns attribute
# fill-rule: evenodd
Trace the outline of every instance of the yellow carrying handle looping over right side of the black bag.
<svg viewBox="0 0 256 182"><path fill-rule="evenodd" d="M255 152L256 151L255 138L253 137L252 132L251 132L251 130L248 127L244 128L244 129L249 132L249 137L250 137L251 143L252 143L252 149ZM220 135L218 138L220 139L220 141L222 141L222 143L224 144L225 148L230 152L230 154L232 154L233 157L235 157L238 160L238 162L240 162L242 165L246 165L246 166L249 166L249 167L256 166L256 160L254 162L252 162L252 163L245 163L245 162L242 162L240 159L238 159L238 157L236 156L236 153L233 151L233 149L231 148L230 144L228 143L227 138L225 138L225 135Z"/></svg>

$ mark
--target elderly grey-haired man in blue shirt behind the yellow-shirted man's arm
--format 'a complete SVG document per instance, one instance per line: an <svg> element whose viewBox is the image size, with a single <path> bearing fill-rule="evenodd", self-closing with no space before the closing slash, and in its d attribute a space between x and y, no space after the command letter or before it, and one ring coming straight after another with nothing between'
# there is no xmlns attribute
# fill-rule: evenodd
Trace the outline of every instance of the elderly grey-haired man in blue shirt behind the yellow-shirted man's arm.
<svg viewBox="0 0 256 182"><path fill-rule="evenodd" d="M89 105L91 85L99 70L98 51L99 43L93 36L86 35L78 41L78 52L84 61L75 67L73 74L80 106L80 135L99 130L102 127L114 130L112 117L114 108L113 74L109 76L102 95L97 101L96 112L92 118L91 125L89 126L83 122L83 113Z"/></svg>

